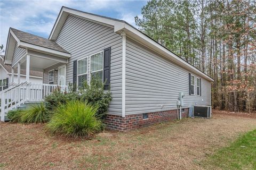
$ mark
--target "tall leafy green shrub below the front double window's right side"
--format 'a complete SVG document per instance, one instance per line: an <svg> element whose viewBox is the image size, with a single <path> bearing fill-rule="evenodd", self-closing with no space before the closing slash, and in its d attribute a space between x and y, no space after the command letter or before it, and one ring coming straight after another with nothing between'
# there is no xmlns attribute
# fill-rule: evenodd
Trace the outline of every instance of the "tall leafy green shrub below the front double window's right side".
<svg viewBox="0 0 256 170"><path fill-rule="evenodd" d="M84 82L83 87L80 89L81 99L98 107L96 114L101 118L108 111L108 105L112 99L110 90L104 90L104 84L100 79L92 77L90 86Z"/></svg>

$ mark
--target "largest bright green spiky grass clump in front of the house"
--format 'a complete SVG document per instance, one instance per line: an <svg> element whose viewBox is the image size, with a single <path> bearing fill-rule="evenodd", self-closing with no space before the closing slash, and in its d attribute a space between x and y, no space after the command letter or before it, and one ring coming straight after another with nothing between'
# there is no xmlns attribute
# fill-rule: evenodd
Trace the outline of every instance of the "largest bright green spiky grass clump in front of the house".
<svg viewBox="0 0 256 170"><path fill-rule="evenodd" d="M102 130L103 124L97 113L97 107L81 100L60 104L46 124L50 132L66 137L90 137Z"/></svg>

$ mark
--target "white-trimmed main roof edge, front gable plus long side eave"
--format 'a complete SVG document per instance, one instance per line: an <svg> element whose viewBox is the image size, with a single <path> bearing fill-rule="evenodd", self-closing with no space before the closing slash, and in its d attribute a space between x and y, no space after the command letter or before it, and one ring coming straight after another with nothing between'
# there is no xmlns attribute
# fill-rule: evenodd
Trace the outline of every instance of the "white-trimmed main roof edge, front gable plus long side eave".
<svg viewBox="0 0 256 170"><path fill-rule="evenodd" d="M62 25L65 23L66 18L69 14L75 15L75 16L78 16L79 18L84 18L86 20L90 20L93 22L108 25L109 27L113 27L114 31L119 34L121 34L122 32L125 32L126 36L132 37L133 39L137 40L138 43L141 43L149 47L151 50L154 50L158 54L161 54L164 57L169 58L169 60L171 60L172 62L182 67L185 67L185 69L189 70L190 72L195 73L206 80L214 81L209 75L197 69L195 66L183 60L183 58L181 58L177 54L171 52L171 50L157 43L157 41L150 38L145 33L141 32L140 30L138 30L137 28L133 27L131 24L123 20L117 20L117 19L106 17L106 16L92 14L84 11L79 11L73 8L69 8L66 6L62 6L60 13L58 15L58 18L55 21L54 26L52 28L49 39L51 40L57 39L59 32L62 28Z"/></svg>

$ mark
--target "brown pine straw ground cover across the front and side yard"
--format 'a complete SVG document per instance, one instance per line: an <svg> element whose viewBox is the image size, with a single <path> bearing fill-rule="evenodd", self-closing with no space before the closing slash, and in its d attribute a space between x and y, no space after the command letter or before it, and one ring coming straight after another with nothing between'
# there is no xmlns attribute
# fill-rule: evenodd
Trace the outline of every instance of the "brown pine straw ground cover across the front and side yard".
<svg viewBox="0 0 256 170"><path fill-rule="evenodd" d="M255 118L213 114L71 140L50 135L42 124L1 123L0 168L204 169L206 157L253 129Z"/></svg>

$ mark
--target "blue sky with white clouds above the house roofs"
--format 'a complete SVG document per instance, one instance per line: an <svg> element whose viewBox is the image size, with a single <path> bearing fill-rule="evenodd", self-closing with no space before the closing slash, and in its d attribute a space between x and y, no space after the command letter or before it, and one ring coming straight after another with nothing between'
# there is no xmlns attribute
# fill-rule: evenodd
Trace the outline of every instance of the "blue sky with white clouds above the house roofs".
<svg viewBox="0 0 256 170"><path fill-rule="evenodd" d="M6 1L0 0L0 45L4 48L9 28L48 38L61 6L125 20L135 26L147 1Z"/></svg>

